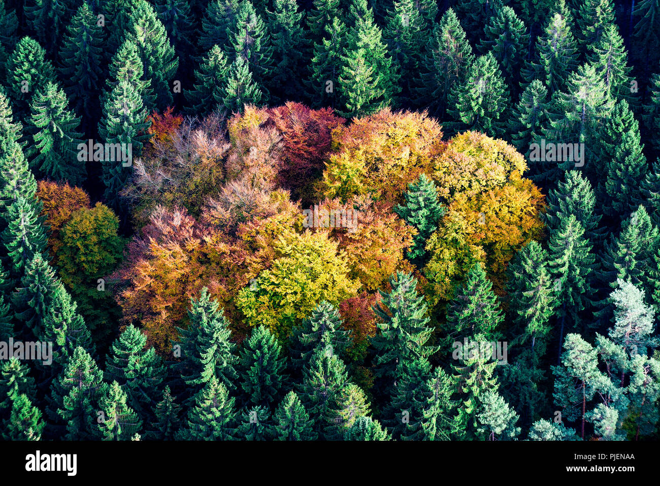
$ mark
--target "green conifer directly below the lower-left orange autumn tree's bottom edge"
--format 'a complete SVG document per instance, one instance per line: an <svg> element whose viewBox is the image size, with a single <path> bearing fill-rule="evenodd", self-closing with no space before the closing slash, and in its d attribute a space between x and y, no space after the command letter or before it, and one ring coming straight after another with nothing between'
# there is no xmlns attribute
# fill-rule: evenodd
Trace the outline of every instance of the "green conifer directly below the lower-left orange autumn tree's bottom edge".
<svg viewBox="0 0 660 486"><path fill-rule="evenodd" d="M131 409L146 417L158 402L165 369L154 348L147 348L147 336L129 325L110 347L105 376L119 383Z"/></svg>

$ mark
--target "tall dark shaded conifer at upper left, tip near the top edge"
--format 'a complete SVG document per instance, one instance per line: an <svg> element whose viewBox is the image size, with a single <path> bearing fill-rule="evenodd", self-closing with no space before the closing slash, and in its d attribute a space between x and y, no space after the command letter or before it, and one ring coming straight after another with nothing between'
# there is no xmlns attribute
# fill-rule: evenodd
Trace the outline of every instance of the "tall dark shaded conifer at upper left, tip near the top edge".
<svg viewBox="0 0 660 486"><path fill-rule="evenodd" d="M90 114L99 109L96 97L102 83L104 40L103 28L85 1L67 26L58 53L58 72L75 112L88 123L92 122Z"/></svg>

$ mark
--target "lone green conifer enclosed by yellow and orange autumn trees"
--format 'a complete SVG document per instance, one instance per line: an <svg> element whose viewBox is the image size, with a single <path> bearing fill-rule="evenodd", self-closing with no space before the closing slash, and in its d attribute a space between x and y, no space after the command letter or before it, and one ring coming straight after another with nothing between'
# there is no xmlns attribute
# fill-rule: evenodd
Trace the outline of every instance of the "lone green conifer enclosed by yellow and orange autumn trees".
<svg viewBox="0 0 660 486"><path fill-rule="evenodd" d="M421 268L426 263L426 240L438 229L446 207L438 201L436 184L424 173L416 182L409 184L404 197L405 205L396 206L395 212L417 230L407 257Z"/></svg>

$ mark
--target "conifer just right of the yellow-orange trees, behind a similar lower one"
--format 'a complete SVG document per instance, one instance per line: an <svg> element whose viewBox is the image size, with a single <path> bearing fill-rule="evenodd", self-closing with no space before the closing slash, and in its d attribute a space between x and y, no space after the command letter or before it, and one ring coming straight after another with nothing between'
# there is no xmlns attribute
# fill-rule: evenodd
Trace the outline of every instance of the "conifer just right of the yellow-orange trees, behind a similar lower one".
<svg viewBox="0 0 660 486"><path fill-rule="evenodd" d="M601 216L596 212L596 197L591 182L580 171L566 171L564 181L548 191L547 203L543 218L550 232L559 229L560 221L572 214L584 228L589 242L601 243L605 228L599 227Z"/></svg>

